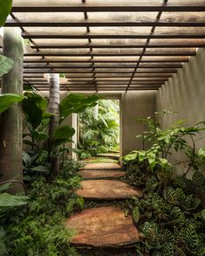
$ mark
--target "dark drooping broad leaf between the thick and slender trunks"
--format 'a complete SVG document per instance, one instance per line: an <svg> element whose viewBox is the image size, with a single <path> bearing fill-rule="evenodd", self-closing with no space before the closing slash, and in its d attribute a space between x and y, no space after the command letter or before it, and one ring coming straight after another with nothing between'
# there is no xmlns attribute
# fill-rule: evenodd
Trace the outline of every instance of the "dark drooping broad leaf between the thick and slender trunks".
<svg viewBox="0 0 205 256"><path fill-rule="evenodd" d="M23 100L23 110L25 118L31 123L32 128L38 128L40 125L44 111L48 106L48 101L38 93L24 93L26 99Z"/></svg>

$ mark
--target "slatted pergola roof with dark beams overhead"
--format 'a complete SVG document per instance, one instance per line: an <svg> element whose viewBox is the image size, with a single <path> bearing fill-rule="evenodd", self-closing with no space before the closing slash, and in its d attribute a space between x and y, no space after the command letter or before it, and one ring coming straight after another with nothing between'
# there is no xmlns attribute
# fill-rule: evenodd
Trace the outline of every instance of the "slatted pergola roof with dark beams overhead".
<svg viewBox="0 0 205 256"><path fill-rule="evenodd" d="M158 89L205 45L204 0L13 0L27 39L24 81L62 90Z"/></svg>

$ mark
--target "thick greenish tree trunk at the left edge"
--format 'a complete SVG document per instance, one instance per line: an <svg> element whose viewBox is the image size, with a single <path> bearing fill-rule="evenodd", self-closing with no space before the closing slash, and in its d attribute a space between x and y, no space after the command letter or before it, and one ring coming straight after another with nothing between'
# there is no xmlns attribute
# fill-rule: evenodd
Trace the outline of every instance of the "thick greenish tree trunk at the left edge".
<svg viewBox="0 0 205 256"><path fill-rule="evenodd" d="M3 54L14 60L10 73L3 76L2 93L23 93L24 42L19 28L4 28ZM12 105L0 117L0 174L3 181L23 180L22 110ZM13 192L22 190L14 185Z"/></svg>

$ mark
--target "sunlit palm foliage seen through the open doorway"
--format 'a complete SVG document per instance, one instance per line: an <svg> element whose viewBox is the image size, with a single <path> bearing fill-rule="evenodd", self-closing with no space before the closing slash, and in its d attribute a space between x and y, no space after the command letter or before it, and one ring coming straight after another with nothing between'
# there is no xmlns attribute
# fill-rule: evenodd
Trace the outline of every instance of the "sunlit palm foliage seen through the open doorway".
<svg viewBox="0 0 205 256"><path fill-rule="evenodd" d="M98 106L79 114L79 158L108 152L119 144L119 112L118 100L99 100Z"/></svg>

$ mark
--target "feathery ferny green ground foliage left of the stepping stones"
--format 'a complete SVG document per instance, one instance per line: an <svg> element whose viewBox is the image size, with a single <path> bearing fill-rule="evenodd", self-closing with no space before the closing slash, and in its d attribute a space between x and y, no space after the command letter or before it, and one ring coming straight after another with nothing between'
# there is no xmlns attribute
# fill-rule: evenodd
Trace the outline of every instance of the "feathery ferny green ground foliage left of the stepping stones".
<svg viewBox="0 0 205 256"><path fill-rule="evenodd" d="M79 166L66 161L51 183L42 176L36 178L29 189L27 208L0 211L9 255L78 255L69 243L74 231L67 229L65 222L72 211L84 208L83 198L73 193L79 188Z"/></svg>

